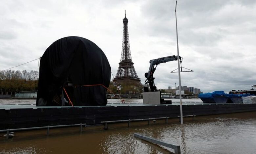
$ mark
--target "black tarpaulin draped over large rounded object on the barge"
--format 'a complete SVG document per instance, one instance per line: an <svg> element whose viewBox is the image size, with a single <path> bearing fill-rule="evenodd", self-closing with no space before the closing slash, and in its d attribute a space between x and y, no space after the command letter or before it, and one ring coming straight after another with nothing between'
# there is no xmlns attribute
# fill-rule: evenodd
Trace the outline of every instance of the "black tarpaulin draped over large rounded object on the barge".
<svg viewBox="0 0 256 154"><path fill-rule="evenodd" d="M82 85L108 87L110 73L108 59L95 43L77 36L59 39L41 57L36 106L61 105L68 100L63 87L74 106L104 106L103 86Z"/></svg>

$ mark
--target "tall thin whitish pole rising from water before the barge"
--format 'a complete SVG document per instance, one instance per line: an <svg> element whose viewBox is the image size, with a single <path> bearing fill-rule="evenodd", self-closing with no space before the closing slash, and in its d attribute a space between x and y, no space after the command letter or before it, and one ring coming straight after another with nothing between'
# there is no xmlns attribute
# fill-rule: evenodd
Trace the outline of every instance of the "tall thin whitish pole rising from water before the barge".
<svg viewBox="0 0 256 154"><path fill-rule="evenodd" d="M181 73L180 73L180 56L179 56L179 43L178 43L178 29L177 29L177 16L176 16L177 1L175 4L175 20L176 20L176 38L177 38L177 55L178 55L178 74L179 74L179 93L180 93L180 109L181 109L181 124L183 124L183 110L181 98Z"/></svg>

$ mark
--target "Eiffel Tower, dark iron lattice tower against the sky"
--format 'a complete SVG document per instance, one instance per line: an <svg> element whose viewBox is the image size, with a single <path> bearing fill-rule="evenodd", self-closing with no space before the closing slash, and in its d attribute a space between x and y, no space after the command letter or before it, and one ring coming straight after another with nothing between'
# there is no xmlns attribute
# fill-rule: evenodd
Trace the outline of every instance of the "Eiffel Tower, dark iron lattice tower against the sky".
<svg viewBox="0 0 256 154"><path fill-rule="evenodd" d="M134 63L132 62L130 43L129 43L129 34L128 34L128 19L126 18L126 13L125 13L125 17L123 19L123 45L122 45L121 60L119 63L116 77L113 78L113 82L133 81L133 82L140 83L140 78L138 78L133 64Z"/></svg>

